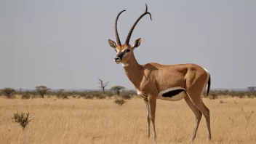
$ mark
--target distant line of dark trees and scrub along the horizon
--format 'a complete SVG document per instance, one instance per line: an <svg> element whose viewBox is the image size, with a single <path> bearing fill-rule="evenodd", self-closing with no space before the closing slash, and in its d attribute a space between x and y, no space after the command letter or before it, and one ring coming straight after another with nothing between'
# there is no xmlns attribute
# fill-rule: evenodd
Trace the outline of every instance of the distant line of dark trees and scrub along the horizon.
<svg viewBox="0 0 256 144"><path fill-rule="evenodd" d="M125 87L120 85L116 85L111 87L110 89L106 89L108 87L109 81L105 82L102 79L98 79L98 84L100 89L102 90L95 90L95 91L84 91L84 92L76 92L76 91L66 91L65 89L59 89L57 91L53 91L48 87L41 85L35 87L33 90L15 90L11 87L5 87L0 89L0 95L5 95L8 98L11 98L13 95L21 95L22 98L30 98L39 96L44 98L45 95L55 95L61 98L68 98L69 96L72 97L84 97L84 98L105 98L111 97L113 95L117 95L119 97L123 97L124 99L129 99L135 95L137 92L135 90L126 90ZM203 97L209 97L215 99L220 96L231 96L231 97L256 97L256 87L247 87L247 90L243 91L231 91L231 90L210 90L209 96L206 96L206 91L203 93Z"/></svg>

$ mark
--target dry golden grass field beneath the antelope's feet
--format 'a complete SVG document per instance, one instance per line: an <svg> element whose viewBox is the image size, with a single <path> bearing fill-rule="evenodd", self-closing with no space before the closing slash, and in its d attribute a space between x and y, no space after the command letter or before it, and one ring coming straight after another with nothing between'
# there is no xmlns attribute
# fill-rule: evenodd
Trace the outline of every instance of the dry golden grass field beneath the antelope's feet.
<svg viewBox="0 0 256 144"><path fill-rule="evenodd" d="M256 143L256 98L203 99L210 110L209 143ZM223 103L220 103L223 100ZM18 111L30 112L33 121L25 131L10 119ZM156 135L147 138L145 103L132 98L119 106L113 99L0 98L0 143L190 143L195 117L185 100L157 100ZM152 126L152 125L151 125ZM207 143L204 117L194 143ZM152 134L152 128L151 128Z"/></svg>

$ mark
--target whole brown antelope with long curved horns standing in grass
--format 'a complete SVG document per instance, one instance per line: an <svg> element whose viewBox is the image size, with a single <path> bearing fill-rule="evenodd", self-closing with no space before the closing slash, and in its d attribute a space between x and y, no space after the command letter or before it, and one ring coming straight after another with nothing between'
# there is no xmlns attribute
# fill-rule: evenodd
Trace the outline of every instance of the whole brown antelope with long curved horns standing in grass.
<svg viewBox="0 0 256 144"><path fill-rule="evenodd" d="M129 81L134 85L137 95L140 95L145 102L148 120L148 138L150 137L150 127L152 122L153 140L156 140L156 99L169 101L184 99L196 117L196 124L193 129L191 141L196 137L202 114L207 123L207 140L211 140L209 109L204 105L201 99L201 95L207 84L207 95L209 94L211 84L209 71L193 63L176 65L161 65L159 63L146 63L140 65L137 63L134 50L140 46L141 38L135 40L133 46L129 44L129 39L140 19L145 15L149 15L151 18L151 13L148 12L148 6L145 4L145 12L137 18L127 35L125 43L121 44L119 33L117 31L117 21L119 15L124 11L126 10L124 9L119 12L115 21L114 28L117 44L111 39L108 39L108 43L117 52L117 55L114 58L115 63L121 63L123 65L124 72Z"/></svg>

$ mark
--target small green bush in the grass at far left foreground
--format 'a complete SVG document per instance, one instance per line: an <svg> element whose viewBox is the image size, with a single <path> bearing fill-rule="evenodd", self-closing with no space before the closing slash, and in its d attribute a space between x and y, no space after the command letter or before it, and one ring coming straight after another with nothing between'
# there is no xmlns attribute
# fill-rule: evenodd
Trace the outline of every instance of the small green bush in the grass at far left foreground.
<svg viewBox="0 0 256 144"><path fill-rule="evenodd" d="M15 120L15 123L20 124L20 126L25 130L26 127L28 127L28 124L33 120L30 117L30 113L14 113L12 118Z"/></svg>

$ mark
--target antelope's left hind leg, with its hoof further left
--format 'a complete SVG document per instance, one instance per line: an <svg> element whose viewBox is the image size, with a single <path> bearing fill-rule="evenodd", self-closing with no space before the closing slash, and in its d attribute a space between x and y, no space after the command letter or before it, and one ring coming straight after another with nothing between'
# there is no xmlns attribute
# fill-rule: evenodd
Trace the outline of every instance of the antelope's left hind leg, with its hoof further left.
<svg viewBox="0 0 256 144"><path fill-rule="evenodd" d="M190 98L189 97L185 97L185 102L188 104L189 108L191 108L191 110L193 111L193 113L195 114L196 116L196 125L193 129L193 135L191 137L191 141L193 141L195 138L196 138L196 132L197 132L197 129L199 128L199 124L200 124L200 121L201 121L201 111L199 111L198 108L196 108L196 106L191 102Z"/></svg>

